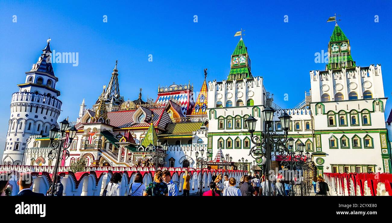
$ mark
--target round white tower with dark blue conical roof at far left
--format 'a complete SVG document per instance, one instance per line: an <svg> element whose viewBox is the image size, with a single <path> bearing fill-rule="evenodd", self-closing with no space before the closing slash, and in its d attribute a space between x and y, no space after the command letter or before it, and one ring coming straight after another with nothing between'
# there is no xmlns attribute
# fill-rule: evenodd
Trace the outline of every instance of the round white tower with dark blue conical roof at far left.
<svg viewBox="0 0 392 223"><path fill-rule="evenodd" d="M62 102L57 99L58 78L54 76L50 61L49 41L38 62L26 72L25 83L18 84L19 92L12 94L11 117L5 141L2 164L25 165L24 149L31 135L49 135L49 129L56 125Z"/></svg>

